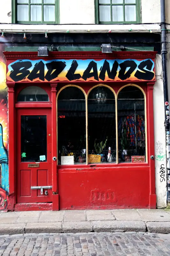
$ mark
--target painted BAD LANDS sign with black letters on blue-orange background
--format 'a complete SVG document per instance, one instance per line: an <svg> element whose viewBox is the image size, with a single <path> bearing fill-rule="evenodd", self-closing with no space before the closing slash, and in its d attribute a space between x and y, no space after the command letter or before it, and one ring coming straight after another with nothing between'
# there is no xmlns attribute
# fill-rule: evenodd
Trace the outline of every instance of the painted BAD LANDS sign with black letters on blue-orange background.
<svg viewBox="0 0 170 256"><path fill-rule="evenodd" d="M154 62L145 60L16 60L7 79L19 81L151 81Z"/></svg>

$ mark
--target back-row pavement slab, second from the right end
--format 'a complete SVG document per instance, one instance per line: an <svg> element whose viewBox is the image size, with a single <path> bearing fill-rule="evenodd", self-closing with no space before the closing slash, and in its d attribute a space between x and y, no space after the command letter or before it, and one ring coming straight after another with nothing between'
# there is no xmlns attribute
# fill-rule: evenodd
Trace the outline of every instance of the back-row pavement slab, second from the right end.
<svg viewBox="0 0 170 256"><path fill-rule="evenodd" d="M116 220L142 220L135 209L112 210Z"/></svg>

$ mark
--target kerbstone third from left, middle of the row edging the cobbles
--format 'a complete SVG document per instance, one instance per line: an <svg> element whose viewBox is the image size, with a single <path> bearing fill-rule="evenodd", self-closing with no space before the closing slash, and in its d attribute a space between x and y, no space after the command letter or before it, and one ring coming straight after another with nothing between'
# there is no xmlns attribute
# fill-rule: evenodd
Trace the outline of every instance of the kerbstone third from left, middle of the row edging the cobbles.
<svg viewBox="0 0 170 256"><path fill-rule="evenodd" d="M63 233L91 232L92 224L90 221L70 221L63 222Z"/></svg>

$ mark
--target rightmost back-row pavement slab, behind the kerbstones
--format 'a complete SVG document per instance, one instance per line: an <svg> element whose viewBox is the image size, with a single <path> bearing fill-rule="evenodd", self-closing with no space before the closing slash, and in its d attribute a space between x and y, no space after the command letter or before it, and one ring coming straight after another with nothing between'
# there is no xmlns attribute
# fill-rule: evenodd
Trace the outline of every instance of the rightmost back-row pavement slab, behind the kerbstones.
<svg viewBox="0 0 170 256"><path fill-rule="evenodd" d="M170 214L161 209L138 209L143 221L170 221Z"/></svg>

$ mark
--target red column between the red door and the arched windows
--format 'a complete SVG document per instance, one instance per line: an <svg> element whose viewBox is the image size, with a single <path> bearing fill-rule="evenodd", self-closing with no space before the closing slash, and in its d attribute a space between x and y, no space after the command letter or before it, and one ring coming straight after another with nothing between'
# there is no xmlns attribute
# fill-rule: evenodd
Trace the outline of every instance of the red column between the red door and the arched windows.
<svg viewBox="0 0 170 256"><path fill-rule="evenodd" d="M57 83L51 84L52 101L52 157L57 157L57 127L56 127L56 87ZM52 189L53 189L53 211L59 210L58 184L57 184L57 161L52 160Z"/></svg>

